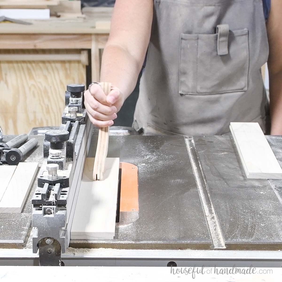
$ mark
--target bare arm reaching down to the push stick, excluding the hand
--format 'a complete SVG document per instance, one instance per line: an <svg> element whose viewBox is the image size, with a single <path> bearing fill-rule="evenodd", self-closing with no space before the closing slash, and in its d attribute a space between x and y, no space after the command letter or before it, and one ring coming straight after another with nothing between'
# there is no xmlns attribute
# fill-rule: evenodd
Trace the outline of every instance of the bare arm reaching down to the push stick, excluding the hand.
<svg viewBox="0 0 282 282"><path fill-rule="evenodd" d="M144 63L152 19L152 0L115 1L100 80L118 87L124 99L134 90Z"/></svg>

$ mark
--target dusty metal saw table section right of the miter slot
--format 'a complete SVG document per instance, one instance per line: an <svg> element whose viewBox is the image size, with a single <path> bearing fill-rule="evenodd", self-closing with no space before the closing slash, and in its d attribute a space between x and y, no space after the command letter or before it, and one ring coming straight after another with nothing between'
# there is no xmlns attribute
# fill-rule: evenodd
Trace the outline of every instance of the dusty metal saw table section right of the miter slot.
<svg viewBox="0 0 282 282"><path fill-rule="evenodd" d="M276 148L282 140L277 143L272 137L268 141L281 160ZM282 205L269 180L246 178L232 137L193 138L226 246L281 248Z"/></svg>

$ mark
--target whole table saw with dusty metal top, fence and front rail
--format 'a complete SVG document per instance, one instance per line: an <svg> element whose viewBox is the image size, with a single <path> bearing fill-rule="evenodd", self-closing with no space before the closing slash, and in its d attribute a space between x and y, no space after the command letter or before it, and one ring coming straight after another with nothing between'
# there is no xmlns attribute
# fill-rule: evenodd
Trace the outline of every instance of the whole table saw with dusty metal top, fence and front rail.
<svg viewBox="0 0 282 282"><path fill-rule="evenodd" d="M60 127L29 133L38 145L23 161L40 169L23 211L0 214L0 265L282 266L282 181L247 179L231 135L111 127L108 157L138 168L139 211L117 217L111 241L73 240L82 171L98 138L83 90L68 86ZM266 138L281 164L282 137ZM46 169L54 163L56 180Z"/></svg>

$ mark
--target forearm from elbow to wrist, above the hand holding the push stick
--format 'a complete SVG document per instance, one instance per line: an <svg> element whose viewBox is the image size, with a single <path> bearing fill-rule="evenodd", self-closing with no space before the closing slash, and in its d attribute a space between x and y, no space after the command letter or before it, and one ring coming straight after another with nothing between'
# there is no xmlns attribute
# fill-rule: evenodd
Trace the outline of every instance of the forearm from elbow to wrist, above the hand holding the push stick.
<svg viewBox="0 0 282 282"><path fill-rule="evenodd" d="M105 47L102 57L101 81L118 87L126 99L134 90L142 64L117 44Z"/></svg>

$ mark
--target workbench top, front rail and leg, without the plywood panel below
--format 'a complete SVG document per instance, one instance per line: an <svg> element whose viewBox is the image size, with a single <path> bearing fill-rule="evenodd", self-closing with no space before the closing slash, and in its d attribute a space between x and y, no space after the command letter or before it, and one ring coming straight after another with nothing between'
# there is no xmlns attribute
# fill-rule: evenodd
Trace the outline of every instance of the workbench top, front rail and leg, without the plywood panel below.
<svg viewBox="0 0 282 282"><path fill-rule="evenodd" d="M96 28L97 20L30 20L32 25L1 23L0 49L90 49L92 80L99 81L100 49L109 28ZM107 23L105 23L107 26Z"/></svg>

